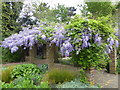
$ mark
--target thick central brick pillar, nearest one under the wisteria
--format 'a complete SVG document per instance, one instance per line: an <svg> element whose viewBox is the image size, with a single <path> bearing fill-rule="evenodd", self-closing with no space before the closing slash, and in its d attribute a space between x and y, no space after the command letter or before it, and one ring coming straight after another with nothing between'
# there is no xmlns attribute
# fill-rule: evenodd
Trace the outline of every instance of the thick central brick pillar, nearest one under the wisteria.
<svg viewBox="0 0 120 90"><path fill-rule="evenodd" d="M48 69L51 70L54 67L54 55L55 55L55 44L51 46L47 45L47 60L48 60Z"/></svg>

